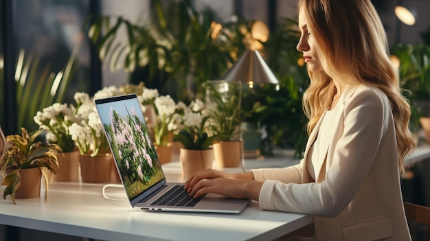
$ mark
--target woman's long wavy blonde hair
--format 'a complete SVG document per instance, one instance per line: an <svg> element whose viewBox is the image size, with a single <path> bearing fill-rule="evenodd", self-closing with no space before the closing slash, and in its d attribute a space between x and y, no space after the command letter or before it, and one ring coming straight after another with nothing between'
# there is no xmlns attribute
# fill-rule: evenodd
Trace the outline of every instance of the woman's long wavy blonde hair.
<svg viewBox="0 0 430 241"><path fill-rule="evenodd" d="M324 71L308 70L310 86L303 107L310 133L336 93L332 78L345 84L365 84L381 89L392 107L396 126L398 164L416 146L409 130L411 109L402 95L398 71L389 60L387 36L370 0L300 0L312 31ZM331 77L330 77L331 76Z"/></svg>

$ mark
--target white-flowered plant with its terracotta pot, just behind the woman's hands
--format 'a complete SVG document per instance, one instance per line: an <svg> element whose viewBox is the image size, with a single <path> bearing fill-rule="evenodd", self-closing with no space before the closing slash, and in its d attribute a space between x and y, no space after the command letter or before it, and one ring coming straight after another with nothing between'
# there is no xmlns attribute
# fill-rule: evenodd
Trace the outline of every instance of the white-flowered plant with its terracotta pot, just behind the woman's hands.
<svg viewBox="0 0 430 241"><path fill-rule="evenodd" d="M205 109L205 103L199 99L192 101L183 114L183 129L173 136L183 148L179 152L182 174L188 178L194 172L212 168L214 150L212 143L216 135L210 133L207 120L210 116Z"/></svg>

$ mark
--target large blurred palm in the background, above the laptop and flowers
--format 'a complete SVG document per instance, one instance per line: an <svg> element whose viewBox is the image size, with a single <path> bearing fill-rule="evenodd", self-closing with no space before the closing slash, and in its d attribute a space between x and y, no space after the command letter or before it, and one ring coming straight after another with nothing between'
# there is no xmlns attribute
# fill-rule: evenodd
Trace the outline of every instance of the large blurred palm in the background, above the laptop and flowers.
<svg viewBox="0 0 430 241"><path fill-rule="evenodd" d="M168 8L161 2L153 1L154 15L148 23L90 16L89 37L111 70L144 68L148 87L158 84L163 95L189 102L195 93L203 93L203 82L220 78L234 62L231 54L238 49L231 41L237 41L238 32L225 29L212 10L197 12L189 0L170 2ZM126 28L126 43L115 41L121 27Z"/></svg>

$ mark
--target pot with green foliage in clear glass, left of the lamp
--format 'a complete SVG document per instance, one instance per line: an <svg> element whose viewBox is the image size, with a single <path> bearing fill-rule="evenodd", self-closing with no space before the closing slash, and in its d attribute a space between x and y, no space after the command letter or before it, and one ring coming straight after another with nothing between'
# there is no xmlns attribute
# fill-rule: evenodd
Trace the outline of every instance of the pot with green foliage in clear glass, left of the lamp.
<svg viewBox="0 0 430 241"><path fill-rule="evenodd" d="M238 167L242 161L240 137L240 82L223 80L204 84L207 89L207 111L210 115L210 131L216 135L214 156L218 168Z"/></svg>

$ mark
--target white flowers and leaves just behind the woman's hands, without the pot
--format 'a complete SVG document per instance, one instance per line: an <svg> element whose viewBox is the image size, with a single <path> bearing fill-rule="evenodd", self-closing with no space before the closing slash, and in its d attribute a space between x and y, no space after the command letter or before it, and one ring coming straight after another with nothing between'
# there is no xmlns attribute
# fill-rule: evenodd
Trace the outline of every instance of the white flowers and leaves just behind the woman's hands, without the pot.
<svg viewBox="0 0 430 241"><path fill-rule="evenodd" d="M210 149L216 135L210 133L209 118L203 101L196 99L191 102L182 117L183 129L173 136L173 141L179 141L188 150Z"/></svg>

